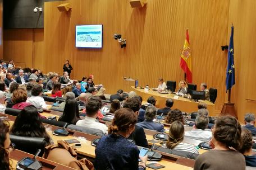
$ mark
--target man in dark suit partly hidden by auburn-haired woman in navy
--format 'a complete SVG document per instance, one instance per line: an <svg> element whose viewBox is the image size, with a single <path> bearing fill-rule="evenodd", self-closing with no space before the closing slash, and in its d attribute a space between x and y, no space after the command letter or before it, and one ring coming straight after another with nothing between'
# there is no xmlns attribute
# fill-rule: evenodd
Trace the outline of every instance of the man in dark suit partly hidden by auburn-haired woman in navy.
<svg viewBox="0 0 256 170"><path fill-rule="evenodd" d="M123 107L131 108L131 110L133 110L135 114L138 115L138 111L140 109L140 101L135 97L129 98L124 103ZM135 144L140 147L149 148L144 129L138 125L135 125L135 130L131 133L128 139L134 140Z"/></svg>

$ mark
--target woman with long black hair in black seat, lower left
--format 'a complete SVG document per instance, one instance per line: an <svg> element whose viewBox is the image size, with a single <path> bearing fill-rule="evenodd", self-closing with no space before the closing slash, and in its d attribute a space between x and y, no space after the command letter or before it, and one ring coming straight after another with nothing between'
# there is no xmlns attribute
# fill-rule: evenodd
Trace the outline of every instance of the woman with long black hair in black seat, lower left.
<svg viewBox="0 0 256 170"><path fill-rule="evenodd" d="M48 135L42 124L38 110L35 106L26 106L21 110L12 125L10 134L45 138L47 145L53 144L51 137Z"/></svg>

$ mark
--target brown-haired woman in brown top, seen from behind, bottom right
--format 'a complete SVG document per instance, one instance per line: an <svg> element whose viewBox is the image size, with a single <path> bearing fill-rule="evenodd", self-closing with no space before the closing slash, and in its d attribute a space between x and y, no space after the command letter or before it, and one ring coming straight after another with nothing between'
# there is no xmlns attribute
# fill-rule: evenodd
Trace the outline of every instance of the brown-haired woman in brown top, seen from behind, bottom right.
<svg viewBox="0 0 256 170"><path fill-rule="evenodd" d="M245 158L237 152L241 147L241 126L233 116L221 116L212 130L212 150L199 155L194 170L245 170Z"/></svg>

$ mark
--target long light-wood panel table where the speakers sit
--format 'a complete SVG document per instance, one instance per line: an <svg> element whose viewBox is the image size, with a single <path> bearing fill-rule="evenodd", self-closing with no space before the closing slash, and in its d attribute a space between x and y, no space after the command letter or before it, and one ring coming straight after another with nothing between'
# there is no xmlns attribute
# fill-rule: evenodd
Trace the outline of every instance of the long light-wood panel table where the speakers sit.
<svg viewBox="0 0 256 170"><path fill-rule="evenodd" d="M187 113L198 110L199 102L191 101L188 98L179 97L179 99L176 100L174 98L175 95L173 94L161 94L161 93L152 91L152 89L150 89L148 92L145 92L144 89L134 88L134 87L131 87L131 88L133 91L137 93L137 95L143 97L143 100L147 100L150 96L153 96L154 98L156 98L157 100L156 107L158 108L166 107L165 103L167 98L172 98L172 100L174 101L172 108L179 108L182 112L187 112ZM212 102L209 102L209 101L200 101L200 102L204 102L207 104L207 109L209 111L210 116L217 116L215 114L215 105Z"/></svg>

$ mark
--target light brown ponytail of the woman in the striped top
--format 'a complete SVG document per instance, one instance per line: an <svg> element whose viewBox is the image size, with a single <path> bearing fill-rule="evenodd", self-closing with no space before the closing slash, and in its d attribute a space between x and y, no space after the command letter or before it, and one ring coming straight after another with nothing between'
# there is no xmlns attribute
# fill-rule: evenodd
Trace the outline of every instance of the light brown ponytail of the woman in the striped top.
<svg viewBox="0 0 256 170"><path fill-rule="evenodd" d="M180 121L174 121L169 130L169 139L166 143L167 148L173 149L184 139L184 125Z"/></svg>

